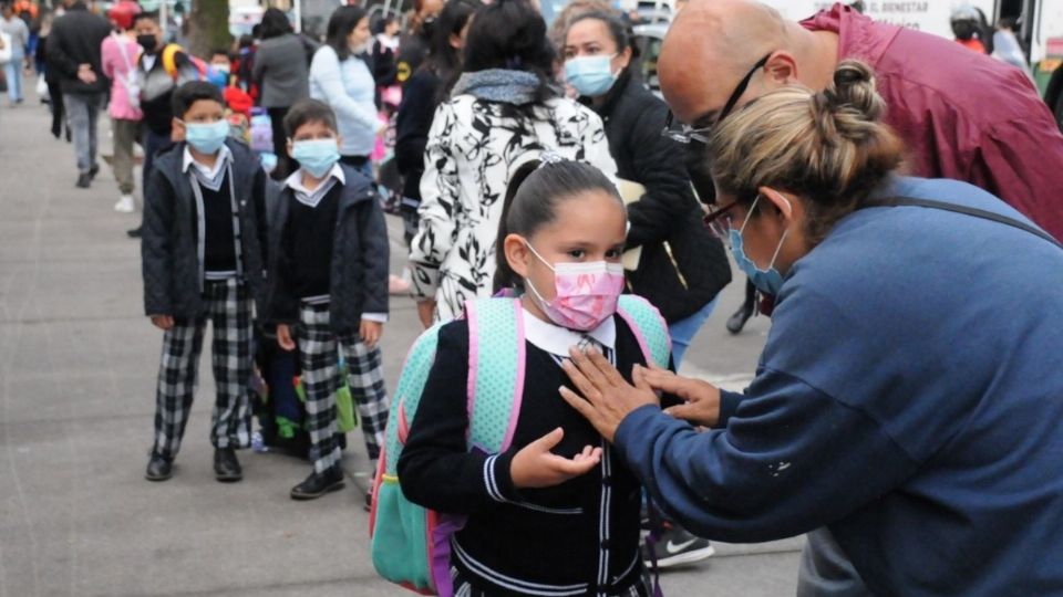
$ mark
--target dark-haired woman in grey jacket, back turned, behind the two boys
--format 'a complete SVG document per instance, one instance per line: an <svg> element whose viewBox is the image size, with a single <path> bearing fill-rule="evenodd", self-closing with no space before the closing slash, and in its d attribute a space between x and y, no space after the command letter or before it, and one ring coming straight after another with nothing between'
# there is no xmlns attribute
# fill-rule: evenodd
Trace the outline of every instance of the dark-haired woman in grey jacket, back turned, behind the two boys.
<svg viewBox="0 0 1063 597"><path fill-rule="evenodd" d="M279 180L292 170L285 115L292 104L310 95L310 63L306 44L292 32L288 18L280 10L266 10L261 31L262 42L255 52L251 80L258 83L259 104L269 112L272 121L274 154L277 155L274 178Z"/></svg>

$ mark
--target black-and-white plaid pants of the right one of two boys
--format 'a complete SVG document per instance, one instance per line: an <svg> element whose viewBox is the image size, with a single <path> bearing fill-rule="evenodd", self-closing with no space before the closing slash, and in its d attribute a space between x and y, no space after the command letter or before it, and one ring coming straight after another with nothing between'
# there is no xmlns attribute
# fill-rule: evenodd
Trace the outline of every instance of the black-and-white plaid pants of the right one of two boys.
<svg viewBox="0 0 1063 597"><path fill-rule="evenodd" d="M340 388L340 350L347 360L348 385L358 406L370 460L380 458L388 425L388 391L380 347L369 348L358 334L337 335L329 325L329 303L303 302L296 326L302 387L307 394L310 433L310 460L314 472L322 473L340 463L336 439L336 391Z"/></svg>

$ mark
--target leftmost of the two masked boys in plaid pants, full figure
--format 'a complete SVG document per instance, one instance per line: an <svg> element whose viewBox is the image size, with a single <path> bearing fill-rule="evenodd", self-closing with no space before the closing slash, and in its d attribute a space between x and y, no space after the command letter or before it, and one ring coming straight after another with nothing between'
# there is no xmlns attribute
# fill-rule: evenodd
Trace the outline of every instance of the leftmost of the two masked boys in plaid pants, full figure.
<svg viewBox="0 0 1063 597"><path fill-rule="evenodd" d="M250 444L252 298L264 283L266 174L229 139L221 91L207 82L174 91L178 143L156 156L144 193L144 310L165 332L151 481L172 474L188 422L207 322L217 386L210 442L218 481L242 478L236 449Z"/></svg>

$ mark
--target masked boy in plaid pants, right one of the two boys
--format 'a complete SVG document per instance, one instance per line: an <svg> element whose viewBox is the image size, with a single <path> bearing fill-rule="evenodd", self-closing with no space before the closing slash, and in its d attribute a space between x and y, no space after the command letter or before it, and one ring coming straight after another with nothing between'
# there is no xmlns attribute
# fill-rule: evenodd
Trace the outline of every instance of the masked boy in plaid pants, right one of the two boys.
<svg viewBox="0 0 1063 597"><path fill-rule="evenodd" d="M313 471L292 488L312 500L343 486L337 441L339 354L350 371L372 471L384 441L388 394L378 345L388 320L388 229L373 181L339 163L336 115L302 100L285 117L288 177L270 218L270 314L281 348L298 343Z"/></svg>

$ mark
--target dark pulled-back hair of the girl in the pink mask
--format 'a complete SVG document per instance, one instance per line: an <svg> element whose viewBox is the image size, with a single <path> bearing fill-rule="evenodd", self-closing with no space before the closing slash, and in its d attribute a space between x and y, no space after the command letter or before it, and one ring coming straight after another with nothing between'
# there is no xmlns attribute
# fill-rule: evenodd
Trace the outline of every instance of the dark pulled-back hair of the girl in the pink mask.
<svg viewBox="0 0 1063 597"><path fill-rule="evenodd" d="M586 191L605 191L621 203L617 187L598 168L582 161L564 160L544 164L537 159L517 168L506 188L506 200L498 220L495 241L496 270L494 290L524 287L524 281L506 260L505 242L509 234L530 238L557 217L557 206Z"/></svg>

